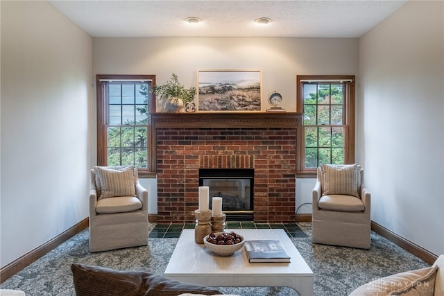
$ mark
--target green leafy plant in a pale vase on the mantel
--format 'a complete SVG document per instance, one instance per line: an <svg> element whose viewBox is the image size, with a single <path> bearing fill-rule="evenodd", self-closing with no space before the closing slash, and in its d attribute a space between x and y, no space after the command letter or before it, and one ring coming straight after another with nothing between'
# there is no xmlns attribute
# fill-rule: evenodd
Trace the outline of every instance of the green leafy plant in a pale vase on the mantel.
<svg viewBox="0 0 444 296"><path fill-rule="evenodd" d="M151 92L161 100L167 100L169 110L180 110L184 104L194 101L196 87L185 88L178 81L178 76L173 73L164 85L155 85Z"/></svg>

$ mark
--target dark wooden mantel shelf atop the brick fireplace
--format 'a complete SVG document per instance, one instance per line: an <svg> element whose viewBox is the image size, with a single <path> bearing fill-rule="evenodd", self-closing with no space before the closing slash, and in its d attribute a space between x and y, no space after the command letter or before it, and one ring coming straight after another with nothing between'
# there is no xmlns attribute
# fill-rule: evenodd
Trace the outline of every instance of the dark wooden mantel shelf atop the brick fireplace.
<svg viewBox="0 0 444 296"><path fill-rule="evenodd" d="M151 114L154 128L296 128L301 118L296 112Z"/></svg>

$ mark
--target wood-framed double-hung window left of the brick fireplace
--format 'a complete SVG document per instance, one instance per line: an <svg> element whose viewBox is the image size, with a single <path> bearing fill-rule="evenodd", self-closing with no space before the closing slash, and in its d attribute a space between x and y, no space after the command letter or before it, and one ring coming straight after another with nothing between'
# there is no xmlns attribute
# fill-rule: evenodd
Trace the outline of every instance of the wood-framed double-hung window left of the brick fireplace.
<svg viewBox="0 0 444 296"><path fill-rule="evenodd" d="M97 76L97 162L151 171L150 103L154 76Z"/></svg>

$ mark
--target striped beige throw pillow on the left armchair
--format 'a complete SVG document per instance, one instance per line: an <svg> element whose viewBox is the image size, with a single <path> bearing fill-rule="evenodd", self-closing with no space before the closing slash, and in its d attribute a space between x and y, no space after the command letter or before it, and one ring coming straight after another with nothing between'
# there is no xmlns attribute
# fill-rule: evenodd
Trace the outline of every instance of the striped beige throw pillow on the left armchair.
<svg viewBox="0 0 444 296"><path fill-rule="evenodd" d="M102 198L113 198L115 196L134 196L134 166L126 168L112 169L97 166L101 184Z"/></svg>

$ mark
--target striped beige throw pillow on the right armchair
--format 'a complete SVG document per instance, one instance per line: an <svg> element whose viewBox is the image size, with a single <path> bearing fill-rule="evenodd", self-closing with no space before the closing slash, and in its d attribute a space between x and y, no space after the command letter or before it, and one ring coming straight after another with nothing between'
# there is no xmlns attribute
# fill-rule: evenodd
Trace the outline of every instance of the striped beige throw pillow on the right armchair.
<svg viewBox="0 0 444 296"><path fill-rule="evenodd" d="M350 164L336 166L323 164L321 166L323 180L323 195L341 194L353 195L359 198L358 193L358 165Z"/></svg>

